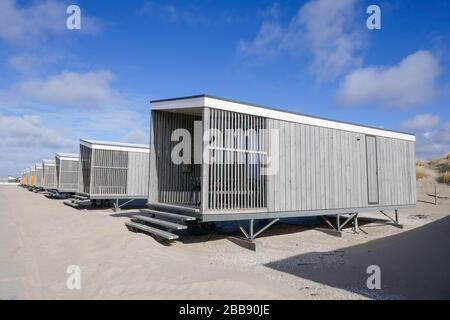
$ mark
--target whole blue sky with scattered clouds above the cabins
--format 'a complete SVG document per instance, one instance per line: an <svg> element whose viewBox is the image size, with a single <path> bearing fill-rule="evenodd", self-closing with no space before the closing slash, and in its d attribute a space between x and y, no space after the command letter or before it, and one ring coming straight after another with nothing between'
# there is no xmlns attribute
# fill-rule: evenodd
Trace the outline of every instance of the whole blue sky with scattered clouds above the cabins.
<svg viewBox="0 0 450 320"><path fill-rule="evenodd" d="M449 35L446 0L2 0L0 176L79 138L148 143L151 99L200 93L413 132L440 156Z"/></svg>

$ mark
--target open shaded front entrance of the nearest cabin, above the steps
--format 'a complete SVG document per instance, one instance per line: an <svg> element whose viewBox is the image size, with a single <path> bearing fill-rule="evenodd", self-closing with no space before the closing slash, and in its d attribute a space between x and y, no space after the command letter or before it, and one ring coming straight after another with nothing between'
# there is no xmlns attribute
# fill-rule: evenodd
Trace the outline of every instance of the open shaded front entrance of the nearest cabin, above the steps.
<svg viewBox="0 0 450 320"><path fill-rule="evenodd" d="M152 111L150 198L157 199L153 202L200 207L201 111Z"/></svg>

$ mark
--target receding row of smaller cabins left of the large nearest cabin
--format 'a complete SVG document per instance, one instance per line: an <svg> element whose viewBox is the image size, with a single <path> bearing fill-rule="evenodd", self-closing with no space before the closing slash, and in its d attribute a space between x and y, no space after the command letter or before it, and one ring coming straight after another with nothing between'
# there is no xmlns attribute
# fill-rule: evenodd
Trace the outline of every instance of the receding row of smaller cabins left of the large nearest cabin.
<svg viewBox="0 0 450 320"><path fill-rule="evenodd" d="M21 184L30 191L67 205L114 206L148 197L149 146L80 140L80 153L56 153L22 172Z"/></svg>

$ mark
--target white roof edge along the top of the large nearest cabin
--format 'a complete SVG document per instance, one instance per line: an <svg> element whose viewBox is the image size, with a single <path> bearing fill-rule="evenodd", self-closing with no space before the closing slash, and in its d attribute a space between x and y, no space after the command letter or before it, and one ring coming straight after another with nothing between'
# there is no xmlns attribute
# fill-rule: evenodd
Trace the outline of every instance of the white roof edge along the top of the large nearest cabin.
<svg viewBox="0 0 450 320"><path fill-rule="evenodd" d="M413 134L391 131L381 128L368 127L353 123L340 122L335 120L317 118L313 116L293 113L289 111L277 110L268 107L252 105L245 102L238 102L211 96L194 96L179 99L157 100L152 102L153 110L185 109L196 107L209 107L231 112L245 113L282 121L303 123L312 126L325 127L367 135L416 141ZM245 109L244 109L245 108Z"/></svg>

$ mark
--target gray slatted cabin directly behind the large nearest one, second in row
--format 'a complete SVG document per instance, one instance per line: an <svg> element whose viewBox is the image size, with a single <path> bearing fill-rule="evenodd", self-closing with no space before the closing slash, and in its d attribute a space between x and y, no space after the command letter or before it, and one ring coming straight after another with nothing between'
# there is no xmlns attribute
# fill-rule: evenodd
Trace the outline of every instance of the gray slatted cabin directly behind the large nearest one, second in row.
<svg viewBox="0 0 450 320"><path fill-rule="evenodd" d="M80 201L111 204L116 208L147 199L149 180L148 145L80 140L78 189ZM122 203L119 204L119 200ZM68 205L78 206L72 200Z"/></svg>

